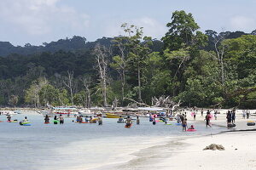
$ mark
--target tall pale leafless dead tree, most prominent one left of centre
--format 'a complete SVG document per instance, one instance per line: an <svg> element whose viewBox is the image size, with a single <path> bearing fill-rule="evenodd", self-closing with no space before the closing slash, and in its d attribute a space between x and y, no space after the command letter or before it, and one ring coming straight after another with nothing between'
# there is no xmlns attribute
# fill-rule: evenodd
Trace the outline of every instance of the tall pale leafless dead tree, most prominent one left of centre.
<svg viewBox="0 0 256 170"><path fill-rule="evenodd" d="M93 50L94 55L96 55L96 68L99 73L100 82L102 86L102 99L103 106L106 107L107 103L107 70L108 70L108 56L110 54L110 50L100 44L96 44L96 47Z"/></svg>

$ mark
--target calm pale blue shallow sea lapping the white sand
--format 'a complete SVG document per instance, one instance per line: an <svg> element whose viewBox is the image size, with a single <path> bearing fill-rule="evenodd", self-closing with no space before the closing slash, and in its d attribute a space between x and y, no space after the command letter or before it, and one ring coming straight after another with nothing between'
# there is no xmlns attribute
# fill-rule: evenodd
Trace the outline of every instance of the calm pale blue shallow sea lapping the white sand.
<svg viewBox="0 0 256 170"><path fill-rule="evenodd" d="M16 115L12 119L22 120L24 116ZM180 126L165 125L163 122L154 126L148 118L141 118L141 124L134 123L131 128L117 123L117 119L107 118L103 119L102 126L74 123L73 117L65 118L63 125L44 124L40 115L27 115L27 119L32 126L5 122L6 116L0 116L0 120L4 121L0 122L0 169L101 169L131 161L137 158L134 153L166 144L177 136L223 130L221 127L206 128L204 123L197 123L196 132L183 133Z"/></svg>

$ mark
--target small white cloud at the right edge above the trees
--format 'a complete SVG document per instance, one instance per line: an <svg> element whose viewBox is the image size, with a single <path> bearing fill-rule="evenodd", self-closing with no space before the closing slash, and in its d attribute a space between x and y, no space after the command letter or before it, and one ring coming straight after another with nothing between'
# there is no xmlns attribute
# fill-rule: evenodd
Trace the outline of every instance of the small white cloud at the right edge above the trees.
<svg viewBox="0 0 256 170"><path fill-rule="evenodd" d="M230 19L230 26L236 31L253 31L256 28L256 19L246 16L235 16Z"/></svg>

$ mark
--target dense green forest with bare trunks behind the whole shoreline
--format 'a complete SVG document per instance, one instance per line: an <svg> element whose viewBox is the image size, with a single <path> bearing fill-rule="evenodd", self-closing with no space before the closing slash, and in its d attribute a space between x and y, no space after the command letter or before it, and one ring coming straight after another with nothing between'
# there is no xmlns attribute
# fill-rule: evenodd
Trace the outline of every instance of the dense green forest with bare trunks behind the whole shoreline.
<svg viewBox="0 0 256 170"><path fill-rule="evenodd" d="M256 31L201 32L175 11L161 40L123 24L122 36L15 47L0 42L0 105L151 105L256 108Z"/></svg>

